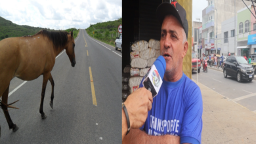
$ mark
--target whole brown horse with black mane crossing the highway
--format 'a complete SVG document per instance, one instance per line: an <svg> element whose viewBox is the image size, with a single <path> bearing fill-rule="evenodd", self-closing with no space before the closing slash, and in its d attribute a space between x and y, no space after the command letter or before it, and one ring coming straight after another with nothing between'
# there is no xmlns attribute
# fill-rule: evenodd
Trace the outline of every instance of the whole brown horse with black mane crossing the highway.
<svg viewBox="0 0 256 144"><path fill-rule="evenodd" d="M46 31L41 30L33 36L12 37L0 41L0 108L5 113L5 118L9 128L16 132L18 126L11 120L8 107L9 85L14 77L24 81L32 81L43 75L43 88L41 93L41 104L39 112L41 118L45 119L43 113L43 99L45 98L45 88L49 80L52 85L50 105L53 109L54 81L51 75L55 58L66 50L72 67L75 66L75 42L73 31ZM11 103L12 104L12 103ZM0 127L1 132L1 127ZM1 134L1 133L0 133Z"/></svg>

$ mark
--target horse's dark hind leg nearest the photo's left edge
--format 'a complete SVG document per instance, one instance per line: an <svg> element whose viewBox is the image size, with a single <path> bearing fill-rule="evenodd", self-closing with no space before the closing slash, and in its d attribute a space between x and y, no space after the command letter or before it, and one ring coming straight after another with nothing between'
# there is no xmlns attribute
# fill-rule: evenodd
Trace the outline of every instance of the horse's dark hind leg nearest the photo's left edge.
<svg viewBox="0 0 256 144"><path fill-rule="evenodd" d="M8 104L8 94L9 94L9 86L8 88L5 90L5 92L3 93L2 96L2 109L3 109L3 113L5 113L5 118L7 120L7 123L9 125L9 128L13 130L13 132L16 132L16 130L18 130L18 126L16 126L16 124L13 124L12 119L9 115L9 111L7 109L7 104Z"/></svg>

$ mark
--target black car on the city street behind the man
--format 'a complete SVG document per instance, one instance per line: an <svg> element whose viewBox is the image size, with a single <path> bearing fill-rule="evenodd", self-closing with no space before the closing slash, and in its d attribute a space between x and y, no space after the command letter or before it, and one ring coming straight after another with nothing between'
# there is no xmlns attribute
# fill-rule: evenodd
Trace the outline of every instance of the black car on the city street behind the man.
<svg viewBox="0 0 256 144"><path fill-rule="evenodd" d="M253 67L242 56L228 56L224 62L223 68L224 78L231 76L238 82L243 80L252 81L254 77Z"/></svg>

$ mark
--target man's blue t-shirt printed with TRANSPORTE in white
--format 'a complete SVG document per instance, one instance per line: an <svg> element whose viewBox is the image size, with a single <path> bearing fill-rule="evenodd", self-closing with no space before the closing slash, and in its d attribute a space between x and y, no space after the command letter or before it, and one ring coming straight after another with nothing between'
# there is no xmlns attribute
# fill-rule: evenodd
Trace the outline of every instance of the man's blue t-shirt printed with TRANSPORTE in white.
<svg viewBox="0 0 256 144"><path fill-rule="evenodd" d="M181 143L201 143L202 114L201 90L183 73L177 82L163 80L140 130L148 135L178 135Z"/></svg>

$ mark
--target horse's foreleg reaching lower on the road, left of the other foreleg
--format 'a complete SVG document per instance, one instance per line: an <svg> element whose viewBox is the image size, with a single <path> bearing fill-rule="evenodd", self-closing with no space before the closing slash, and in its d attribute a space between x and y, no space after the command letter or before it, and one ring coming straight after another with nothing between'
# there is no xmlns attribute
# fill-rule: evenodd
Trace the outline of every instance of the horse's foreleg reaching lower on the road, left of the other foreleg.
<svg viewBox="0 0 256 144"><path fill-rule="evenodd" d="M51 75L51 73L43 74L43 86L42 86L41 103L40 103L40 109L39 109L39 112L41 113L41 118L42 119L46 118L45 113L43 113L43 99L45 99L45 88L46 88L47 81L48 81L50 75Z"/></svg>

